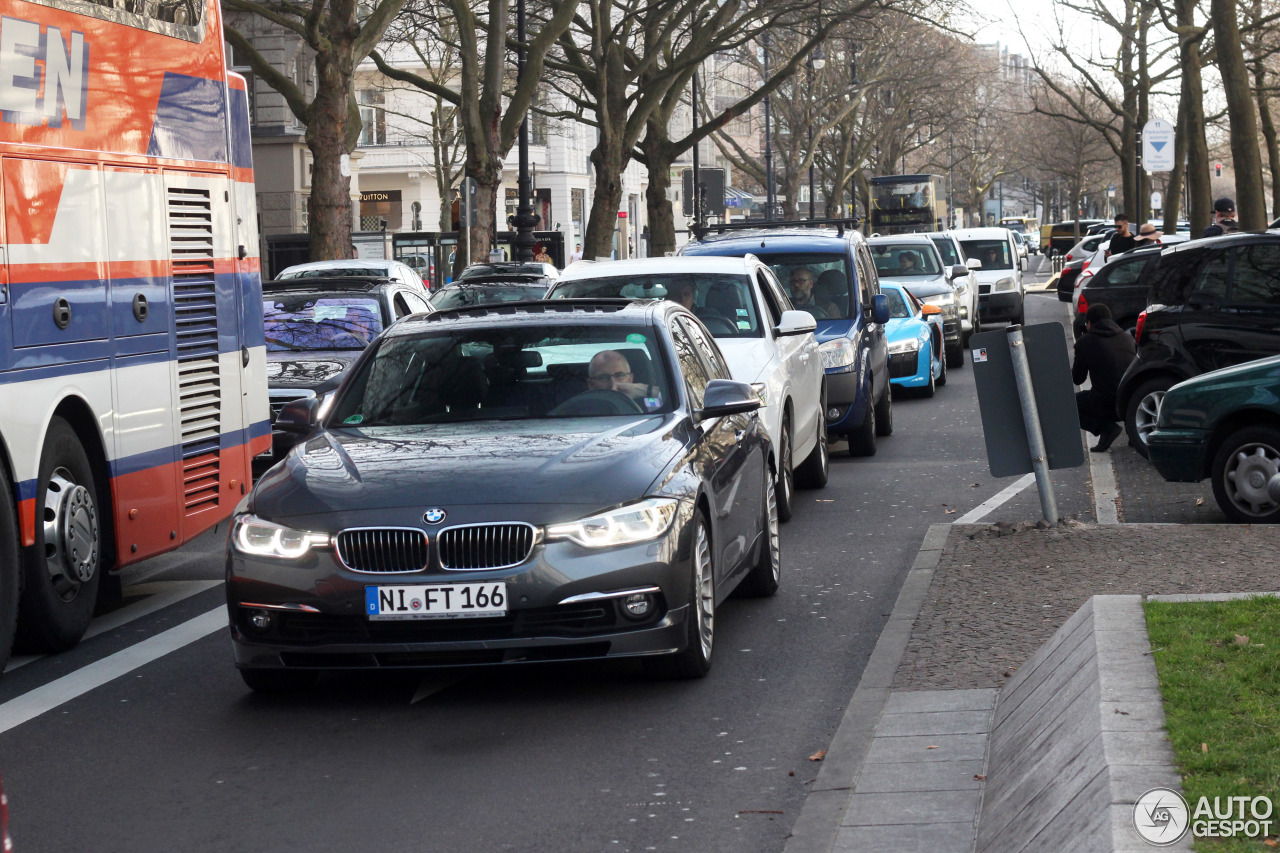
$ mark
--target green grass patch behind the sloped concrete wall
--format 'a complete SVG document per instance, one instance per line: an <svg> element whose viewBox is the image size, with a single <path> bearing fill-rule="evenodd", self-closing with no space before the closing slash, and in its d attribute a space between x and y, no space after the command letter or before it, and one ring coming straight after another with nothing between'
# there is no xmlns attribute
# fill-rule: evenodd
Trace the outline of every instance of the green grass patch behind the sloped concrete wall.
<svg viewBox="0 0 1280 853"><path fill-rule="evenodd" d="M1169 739L1183 793L1270 797L1280 807L1280 598L1147 602ZM1202 747L1203 744L1203 747ZM1271 834L1280 835L1280 808ZM1274 850L1261 839L1197 839L1206 853Z"/></svg>

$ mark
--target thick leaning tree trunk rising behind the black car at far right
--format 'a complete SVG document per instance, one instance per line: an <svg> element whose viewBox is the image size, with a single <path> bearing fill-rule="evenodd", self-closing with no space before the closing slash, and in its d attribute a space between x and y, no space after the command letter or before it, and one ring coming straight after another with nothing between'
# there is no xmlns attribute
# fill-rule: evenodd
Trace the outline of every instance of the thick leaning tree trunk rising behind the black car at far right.
<svg viewBox="0 0 1280 853"><path fill-rule="evenodd" d="M1226 95L1231 131L1231 160L1235 167L1235 213L1240 228L1265 228L1266 197L1262 192L1262 158L1258 154L1258 123L1248 67L1240 47L1235 0L1211 0L1210 19L1217 47L1217 67Z"/></svg>

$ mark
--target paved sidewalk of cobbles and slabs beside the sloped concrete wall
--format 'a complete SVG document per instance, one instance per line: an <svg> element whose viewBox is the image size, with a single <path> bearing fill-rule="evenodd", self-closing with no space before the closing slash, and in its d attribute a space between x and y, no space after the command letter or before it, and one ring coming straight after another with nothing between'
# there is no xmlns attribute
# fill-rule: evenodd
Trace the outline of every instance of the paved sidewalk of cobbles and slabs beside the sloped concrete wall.
<svg viewBox="0 0 1280 853"><path fill-rule="evenodd" d="M1093 594L1280 588L1280 526L934 525L787 853L972 853L1000 688Z"/></svg>

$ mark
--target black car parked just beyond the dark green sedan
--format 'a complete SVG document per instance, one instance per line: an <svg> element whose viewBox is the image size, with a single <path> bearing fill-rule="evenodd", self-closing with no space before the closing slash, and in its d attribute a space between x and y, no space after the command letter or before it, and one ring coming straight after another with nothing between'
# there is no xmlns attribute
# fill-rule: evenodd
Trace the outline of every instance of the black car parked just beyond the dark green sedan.
<svg viewBox="0 0 1280 853"><path fill-rule="evenodd" d="M1166 247L1147 278L1138 355L1116 393L1116 414L1143 456L1160 402L1176 383L1280 353L1280 232Z"/></svg>

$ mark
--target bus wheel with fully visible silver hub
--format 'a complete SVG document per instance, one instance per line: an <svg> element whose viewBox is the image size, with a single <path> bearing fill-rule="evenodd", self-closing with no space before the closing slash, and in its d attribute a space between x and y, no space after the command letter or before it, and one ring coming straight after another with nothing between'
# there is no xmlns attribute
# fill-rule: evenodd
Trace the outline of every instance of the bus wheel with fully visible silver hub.
<svg viewBox="0 0 1280 853"><path fill-rule="evenodd" d="M23 555L18 642L60 652L83 637L102 573L102 520L88 456L76 430L55 418L40 455L36 544Z"/></svg>

